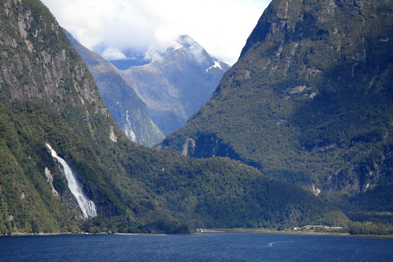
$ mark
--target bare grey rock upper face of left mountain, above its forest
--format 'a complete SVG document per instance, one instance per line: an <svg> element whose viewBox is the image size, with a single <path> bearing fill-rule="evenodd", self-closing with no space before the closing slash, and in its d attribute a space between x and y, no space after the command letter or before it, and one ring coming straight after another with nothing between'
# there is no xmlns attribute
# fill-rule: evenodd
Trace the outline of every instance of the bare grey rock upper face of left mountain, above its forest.
<svg viewBox="0 0 393 262"><path fill-rule="evenodd" d="M42 8L42 11L47 12L45 15L50 15L39 4L30 1L27 4L32 5L31 8ZM105 104L84 63L70 59L76 54L64 44L66 39L56 20L52 17L47 21L46 17L37 15L22 3L4 1L3 5L2 93L7 91L11 101L48 99L53 102L57 97L68 97L67 92L70 92L73 99L71 102L81 106L79 109L85 113L87 123L89 105L93 105L91 113L108 117ZM15 10L17 14L14 13ZM85 101L89 105L84 105ZM63 109L60 108L61 103L56 105L59 110Z"/></svg>

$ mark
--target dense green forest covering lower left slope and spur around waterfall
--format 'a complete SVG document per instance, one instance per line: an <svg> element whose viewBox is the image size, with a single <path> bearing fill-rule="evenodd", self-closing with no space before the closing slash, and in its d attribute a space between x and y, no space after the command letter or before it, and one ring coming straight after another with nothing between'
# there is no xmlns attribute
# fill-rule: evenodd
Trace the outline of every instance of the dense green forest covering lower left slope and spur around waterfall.
<svg viewBox="0 0 393 262"><path fill-rule="evenodd" d="M62 172L44 143L59 148L61 156L72 163L100 213L108 221L111 217L127 221L131 232L146 232L138 228L145 221L152 221L150 225L170 222L176 227L180 223L188 230L348 222L337 208L327 206L311 193L267 178L239 162L152 152L125 138L117 145L91 146L82 142L50 107L18 101L1 109L1 137L6 138L1 145L1 190L5 195L1 203L6 210L1 233L67 232L99 221L96 218L81 226L73 221L78 217L76 211L70 214L66 205L59 204L70 196L65 194ZM54 171L54 187L61 199L52 195L43 174L45 167ZM12 214L12 221L7 221L7 214Z"/></svg>

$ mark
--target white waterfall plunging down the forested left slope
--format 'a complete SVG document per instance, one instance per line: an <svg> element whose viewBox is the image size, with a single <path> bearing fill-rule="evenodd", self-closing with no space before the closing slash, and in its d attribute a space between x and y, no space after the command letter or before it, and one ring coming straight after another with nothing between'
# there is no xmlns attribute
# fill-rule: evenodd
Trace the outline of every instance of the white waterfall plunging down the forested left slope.
<svg viewBox="0 0 393 262"><path fill-rule="evenodd" d="M70 189L71 193L74 195L79 206L81 207L84 218L97 216L97 207L95 206L94 202L88 200L87 197L84 195L84 193L82 192L82 187L78 183L74 174L72 174L70 167L67 165L64 159L57 155L56 151L52 149L51 146L49 146L48 144L45 145L51 151L52 156L56 158L56 160L63 166L64 174L68 182L68 188Z"/></svg>

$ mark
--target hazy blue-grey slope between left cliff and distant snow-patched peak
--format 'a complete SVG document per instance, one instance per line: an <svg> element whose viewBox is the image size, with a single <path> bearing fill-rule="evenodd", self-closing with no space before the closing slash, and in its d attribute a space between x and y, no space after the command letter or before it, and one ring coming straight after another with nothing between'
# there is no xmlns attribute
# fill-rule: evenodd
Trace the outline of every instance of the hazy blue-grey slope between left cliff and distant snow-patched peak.
<svg viewBox="0 0 393 262"><path fill-rule="evenodd" d="M164 134L151 120L146 105L120 72L109 61L85 48L63 30L87 65L109 112L124 134L140 145L154 146L160 143Z"/></svg>

